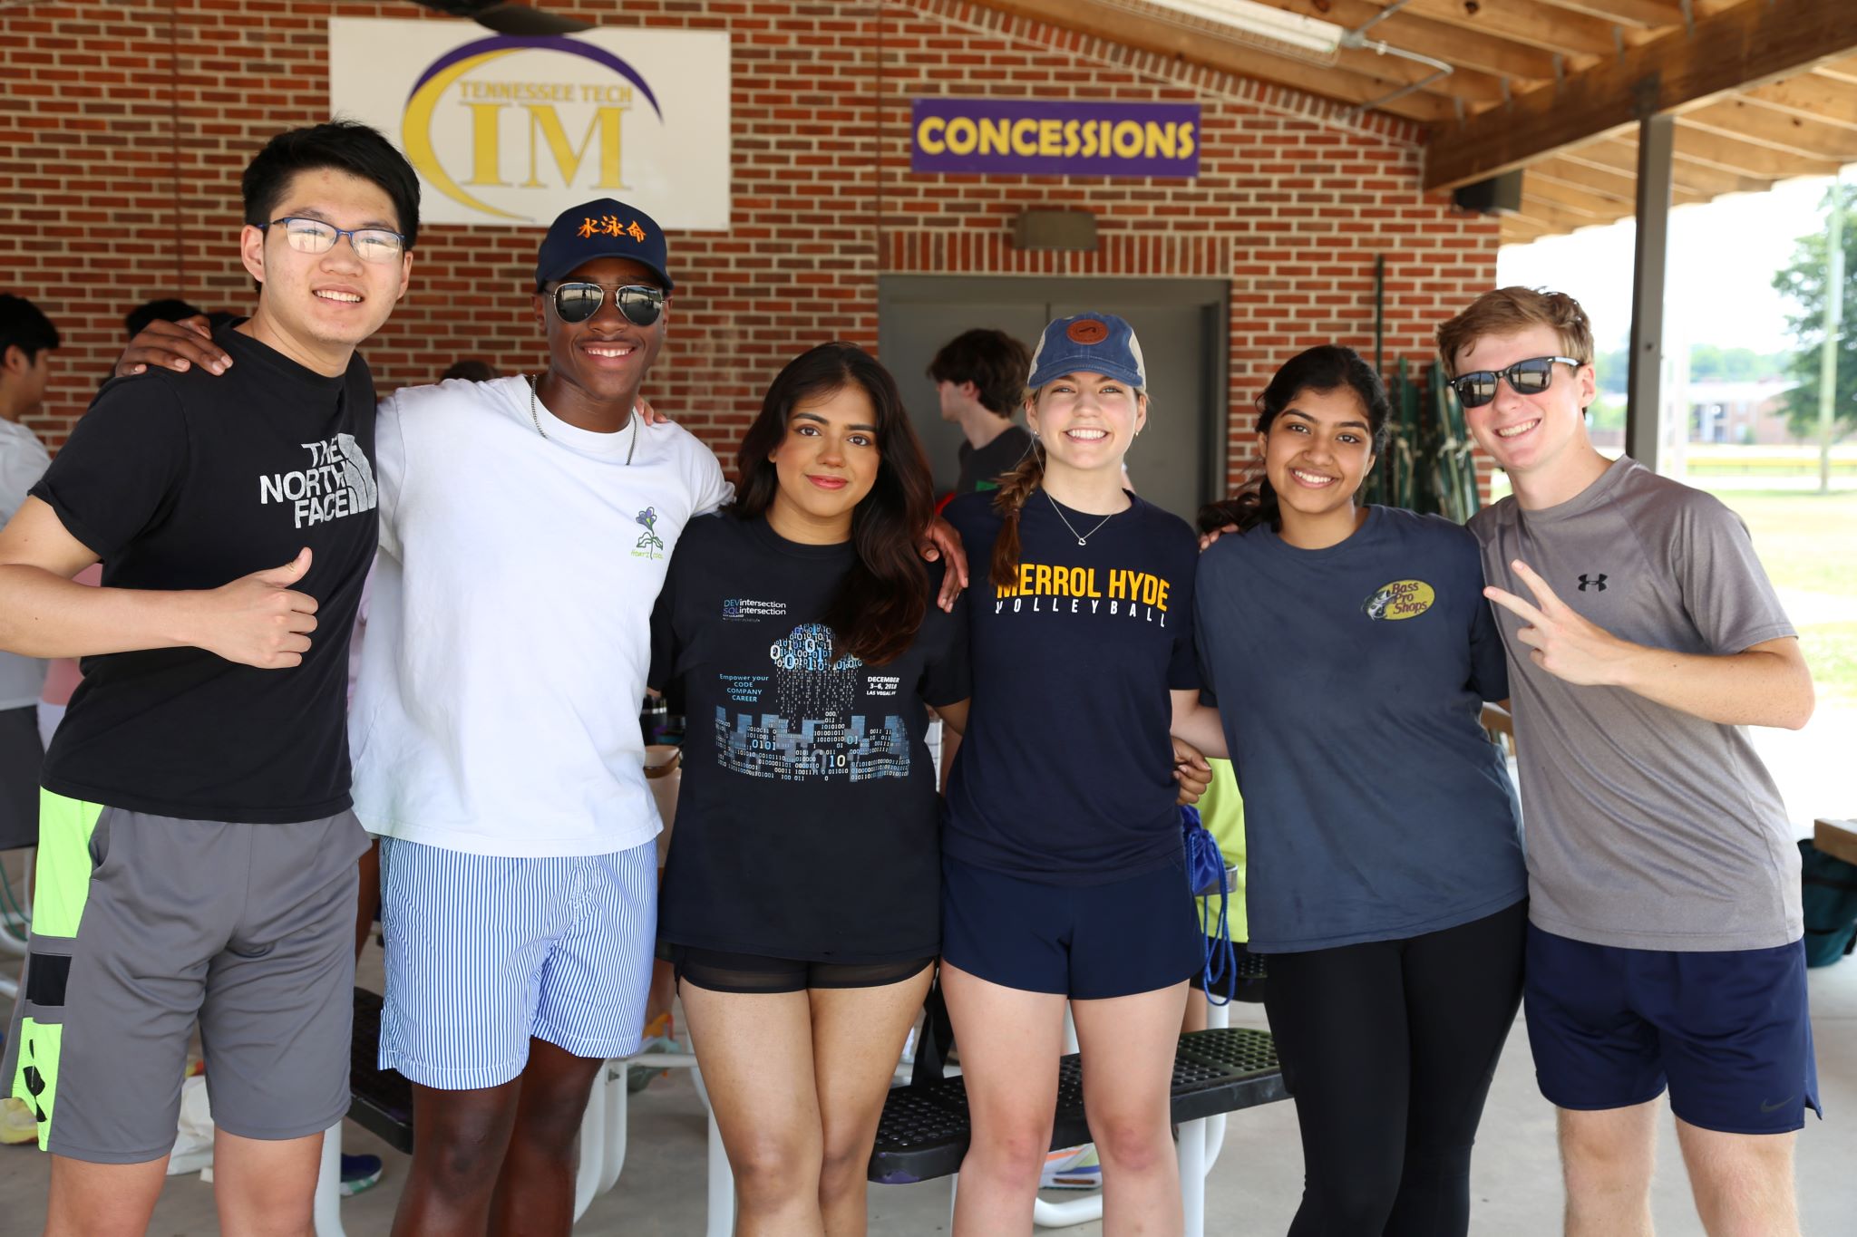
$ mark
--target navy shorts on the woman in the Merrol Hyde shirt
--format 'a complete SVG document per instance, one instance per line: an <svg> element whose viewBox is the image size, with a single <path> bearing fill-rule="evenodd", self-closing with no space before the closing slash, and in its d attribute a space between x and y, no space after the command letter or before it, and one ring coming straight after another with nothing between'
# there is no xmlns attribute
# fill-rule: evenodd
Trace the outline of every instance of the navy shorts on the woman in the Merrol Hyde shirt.
<svg viewBox="0 0 1857 1237"><path fill-rule="evenodd" d="M1103 885L1049 885L941 857L941 961L988 983L1079 1001L1170 988L1205 937L1187 861Z"/></svg>

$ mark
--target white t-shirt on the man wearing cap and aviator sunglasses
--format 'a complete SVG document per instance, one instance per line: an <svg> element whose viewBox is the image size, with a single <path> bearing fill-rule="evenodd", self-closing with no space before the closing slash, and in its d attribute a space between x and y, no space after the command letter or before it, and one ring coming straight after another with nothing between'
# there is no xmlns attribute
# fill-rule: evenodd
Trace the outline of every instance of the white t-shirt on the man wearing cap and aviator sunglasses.
<svg viewBox="0 0 1857 1237"><path fill-rule="evenodd" d="M381 558L349 714L373 833L552 857L659 831L639 731L652 603L683 525L734 490L682 427L537 414L546 440L522 378L381 404Z"/></svg>

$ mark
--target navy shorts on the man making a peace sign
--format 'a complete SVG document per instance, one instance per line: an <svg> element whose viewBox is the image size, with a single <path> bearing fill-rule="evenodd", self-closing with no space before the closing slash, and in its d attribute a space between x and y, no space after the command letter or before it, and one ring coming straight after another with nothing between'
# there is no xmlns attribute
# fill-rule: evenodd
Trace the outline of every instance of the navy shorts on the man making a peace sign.
<svg viewBox="0 0 1857 1237"><path fill-rule="evenodd" d="M1818 1105L1805 1009L1805 944L1625 950L1528 925L1523 985L1541 1094L1616 1109L1669 1087L1682 1120L1721 1133L1786 1133Z"/></svg>

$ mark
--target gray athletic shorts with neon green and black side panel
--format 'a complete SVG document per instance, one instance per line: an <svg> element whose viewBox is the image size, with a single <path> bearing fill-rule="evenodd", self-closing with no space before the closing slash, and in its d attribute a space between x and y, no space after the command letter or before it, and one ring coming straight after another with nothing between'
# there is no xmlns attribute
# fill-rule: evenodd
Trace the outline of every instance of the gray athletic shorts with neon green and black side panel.
<svg viewBox="0 0 1857 1237"><path fill-rule="evenodd" d="M353 812L243 825L43 792L0 1072L39 1146L100 1165L167 1155L195 1018L219 1129L299 1139L342 1120L364 849Z"/></svg>

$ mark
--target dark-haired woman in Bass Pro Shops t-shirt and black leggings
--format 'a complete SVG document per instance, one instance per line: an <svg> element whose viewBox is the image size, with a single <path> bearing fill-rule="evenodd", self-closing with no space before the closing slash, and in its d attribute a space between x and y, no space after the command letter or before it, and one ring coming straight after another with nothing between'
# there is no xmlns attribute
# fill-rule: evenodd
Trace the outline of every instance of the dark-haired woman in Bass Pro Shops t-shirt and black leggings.
<svg viewBox="0 0 1857 1237"><path fill-rule="evenodd" d="M1387 441L1356 352L1257 401L1255 488L1201 516L1200 668L1244 792L1250 951L1296 1096L1291 1237L1463 1237L1521 1000L1528 877L1482 701L1508 695L1476 540L1356 501Z"/></svg>

